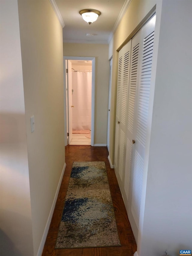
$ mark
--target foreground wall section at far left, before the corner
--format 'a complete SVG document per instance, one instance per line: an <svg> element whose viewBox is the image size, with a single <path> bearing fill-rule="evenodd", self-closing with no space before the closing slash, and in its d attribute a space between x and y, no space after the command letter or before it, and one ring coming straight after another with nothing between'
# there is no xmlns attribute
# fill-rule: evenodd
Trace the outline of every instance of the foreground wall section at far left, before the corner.
<svg viewBox="0 0 192 256"><path fill-rule="evenodd" d="M17 1L0 2L0 255L33 255Z"/></svg>

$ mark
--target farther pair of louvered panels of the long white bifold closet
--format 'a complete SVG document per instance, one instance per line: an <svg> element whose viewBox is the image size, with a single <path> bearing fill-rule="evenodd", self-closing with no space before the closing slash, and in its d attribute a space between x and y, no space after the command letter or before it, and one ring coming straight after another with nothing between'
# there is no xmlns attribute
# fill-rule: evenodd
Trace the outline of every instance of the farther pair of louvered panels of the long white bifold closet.
<svg viewBox="0 0 192 256"><path fill-rule="evenodd" d="M114 166L119 182L123 181L125 171L125 136L130 75L130 58L131 40L119 51Z"/></svg>

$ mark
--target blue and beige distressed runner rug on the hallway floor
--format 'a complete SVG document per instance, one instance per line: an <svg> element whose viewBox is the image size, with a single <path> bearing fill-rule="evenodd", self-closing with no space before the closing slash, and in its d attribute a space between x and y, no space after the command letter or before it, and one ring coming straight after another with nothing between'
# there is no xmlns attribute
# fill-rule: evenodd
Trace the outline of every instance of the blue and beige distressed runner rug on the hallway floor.
<svg viewBox="0 0 192 256"><path fill-rule="evenodd" d="M105 162L74 162L55 248L119 245Z"/></svg>

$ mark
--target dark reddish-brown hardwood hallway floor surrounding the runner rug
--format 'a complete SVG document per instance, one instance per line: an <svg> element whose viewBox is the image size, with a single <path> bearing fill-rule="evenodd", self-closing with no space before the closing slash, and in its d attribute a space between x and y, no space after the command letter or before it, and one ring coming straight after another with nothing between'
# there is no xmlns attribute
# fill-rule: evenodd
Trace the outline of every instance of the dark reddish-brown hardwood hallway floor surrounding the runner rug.
<svg viewBox="0 0 192 256"><path fill-rule="evenodd" d="M137 245L134 239L131 225L128 220L127 212L119 189L114 169L110 168L107 147L92 147L92 146L66 146L65 147L65 162L67 164L61 187L58 194L58 199L55 205L55 210L52 216L52 221L49 227L49 232L46 238L43 256L133 256L137 251ZM98 248L77 248L77 249L55 249L55 242L61 214L63 211L65 195L70 178L70 172L73 161L105 161L107 175L110 185L110 191L113 201L113 207L116 216L119 238L122 246L114 247L98 247Z"/></svg>

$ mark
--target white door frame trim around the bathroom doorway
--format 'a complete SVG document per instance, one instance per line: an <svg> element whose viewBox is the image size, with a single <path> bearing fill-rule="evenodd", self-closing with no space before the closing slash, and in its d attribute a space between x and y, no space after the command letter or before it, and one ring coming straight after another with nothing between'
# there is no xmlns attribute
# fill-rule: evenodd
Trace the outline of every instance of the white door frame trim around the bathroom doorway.
<svg viewBox="0 0 192 256"><path fill-rule="evenodd" d="M66 60L91 60L92 61L92 81L91 81L91 146L94 146L94 128L95 128L95 57L63 56L63 74L64 74L64 142L67 146L67 90L66 90Z"/></svg>

